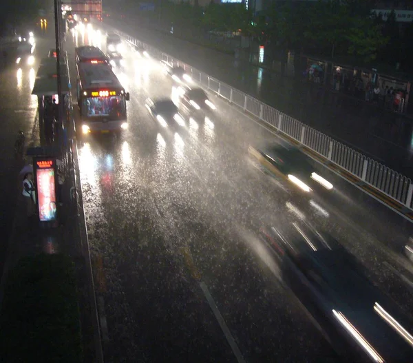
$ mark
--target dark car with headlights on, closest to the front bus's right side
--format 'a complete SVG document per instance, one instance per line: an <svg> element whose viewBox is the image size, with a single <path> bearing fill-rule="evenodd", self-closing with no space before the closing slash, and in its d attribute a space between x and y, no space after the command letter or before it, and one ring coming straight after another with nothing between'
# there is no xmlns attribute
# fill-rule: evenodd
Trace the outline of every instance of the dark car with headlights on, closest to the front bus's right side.
<svg viewBox="0 0 413 363"><path fill-rule="evenodd" d="M160 98L151 100L147 98L145 107L149 110L153 118L155 118L162 127L184 126L184 118L178 112L178 107L170 98Z"/></svg>

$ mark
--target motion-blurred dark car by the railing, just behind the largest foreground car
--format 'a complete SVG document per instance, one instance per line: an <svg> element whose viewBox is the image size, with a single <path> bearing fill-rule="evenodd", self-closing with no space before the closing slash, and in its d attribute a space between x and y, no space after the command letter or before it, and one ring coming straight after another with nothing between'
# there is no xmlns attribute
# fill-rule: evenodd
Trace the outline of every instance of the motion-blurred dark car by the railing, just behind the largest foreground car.
<svg viewBox="0 0 413 363"><path fill-rule="evenodd" d="M317 174L315 167L308 162L308 157L297 147L286 143L273 144L262 149L250 146L248 154L260 163L266 172L286 178L304 194L311 195L318 189L333 189L333 185Z"/></svg>

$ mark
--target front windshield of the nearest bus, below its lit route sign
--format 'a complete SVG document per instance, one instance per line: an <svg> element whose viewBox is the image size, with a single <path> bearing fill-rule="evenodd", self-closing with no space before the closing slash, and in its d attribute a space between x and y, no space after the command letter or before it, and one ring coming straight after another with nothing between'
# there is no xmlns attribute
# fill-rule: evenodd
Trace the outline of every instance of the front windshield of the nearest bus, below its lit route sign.
<svg viewBox="0 0 413 363"><path fill-rule="evenodd" d="M83 98L83 110L84 116L87 117L126 118L126 102L122 96L85 97Z"/></svg>

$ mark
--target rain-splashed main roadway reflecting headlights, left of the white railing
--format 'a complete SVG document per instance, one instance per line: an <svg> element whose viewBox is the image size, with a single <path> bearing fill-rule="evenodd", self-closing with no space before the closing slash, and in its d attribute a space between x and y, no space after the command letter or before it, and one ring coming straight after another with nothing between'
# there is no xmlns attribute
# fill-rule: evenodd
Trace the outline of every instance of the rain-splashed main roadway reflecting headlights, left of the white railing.
<svg viewBox="0 0 413 363"><path fill-rule="evenodd" d="M74 33L78 45L105 50L86 33ZM401 270L393 256L412 232L401 217L323 169L337 193L313 209L249 162L248 145L273 134L218 98L211 121L160 131L145 99L176 95L158 62L127 52L118 77L129 129L79 152L89 242L103 258L107 362L336 362L257 236L281 220L328 230L409 309L412 295L385 265Z"/></svg>

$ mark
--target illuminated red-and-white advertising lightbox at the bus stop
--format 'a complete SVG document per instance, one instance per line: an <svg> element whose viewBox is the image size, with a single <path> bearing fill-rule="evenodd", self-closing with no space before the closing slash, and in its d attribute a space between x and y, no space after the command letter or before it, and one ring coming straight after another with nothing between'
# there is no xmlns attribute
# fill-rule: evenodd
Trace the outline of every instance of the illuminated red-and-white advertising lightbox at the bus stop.
<svg viewBox="0 0 413 363"><path fill-rule="evenodd" d="M55 165L54 159L38 159L34 163L37 205L41 222L51 222L57 219Z"/></svg>

